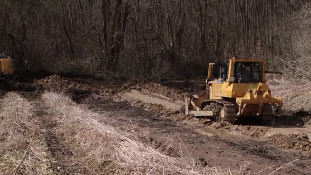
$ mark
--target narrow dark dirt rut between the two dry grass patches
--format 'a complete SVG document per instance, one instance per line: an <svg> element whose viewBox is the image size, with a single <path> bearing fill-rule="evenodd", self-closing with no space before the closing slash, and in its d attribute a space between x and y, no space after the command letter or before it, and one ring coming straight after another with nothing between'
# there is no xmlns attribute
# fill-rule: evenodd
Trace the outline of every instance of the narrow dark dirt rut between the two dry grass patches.
<svg viewBox="0 0 311 175"><path fill-rule="evenodd" d="M40 94L42 91L23 92L19 94L27 98L34 104L34 118L37 120L39 133L45 139L50 156L50 165L55 174L87 174L83 168L79 167L79 162L75 160L74 153L66 146L66 142L61 136L55 133L57 122L48 113L48 108L42 105Z"/></svg>

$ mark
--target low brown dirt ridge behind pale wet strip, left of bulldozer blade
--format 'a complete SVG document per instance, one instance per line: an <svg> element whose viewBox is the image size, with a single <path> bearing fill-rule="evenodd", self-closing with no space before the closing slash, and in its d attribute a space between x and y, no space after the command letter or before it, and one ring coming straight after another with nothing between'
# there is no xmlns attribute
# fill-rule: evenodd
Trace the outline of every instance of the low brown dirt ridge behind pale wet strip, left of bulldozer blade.
<svg viewBox="0 0 311 175"><path fill-rule="evenodd" d="M145 83L142 84L141 88L146 89L151 93L164 95L172 100L184 101L186 96L186 93L182 92L181 90L168 88L158 83Z"/></svg>

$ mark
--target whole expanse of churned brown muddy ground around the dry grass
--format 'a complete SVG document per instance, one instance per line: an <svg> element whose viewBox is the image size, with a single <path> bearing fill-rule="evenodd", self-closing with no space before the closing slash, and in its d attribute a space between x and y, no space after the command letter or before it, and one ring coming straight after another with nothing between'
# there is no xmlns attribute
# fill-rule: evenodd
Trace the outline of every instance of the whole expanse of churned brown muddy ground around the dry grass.
<svg viewBox="0 0 311 175"><path fill-rule="evenodd" d="M16 91L35 101L44 90L65 91L76 103L115 116L115 125L137 125L146 130L154 142L160 145L173 143L172 151L180 152L176 156L201 158L206 166L231 169L246 166L246 171L251 174L269 174L299 159L274 174L311 173L311 130L303 127L299 116L284 115L275 120L273 128L271 123L257 125L243 121L239 125L230 125L185 116L182 113L185 94L196 94L202 89L204 82L201 81L146 82L46 75L12 80L4 93ZM46 115L40 108L37 110L40 115ZM46 129L43 135L53 159L60 162L53 165L56 170L68 174L77 171L77 167L71 167L71 153L63 145L65 141L50 133L53 130L49 128L51 125L42 124L42 127ZM56 148L59 145L62 145L61 149Z"/></svg>

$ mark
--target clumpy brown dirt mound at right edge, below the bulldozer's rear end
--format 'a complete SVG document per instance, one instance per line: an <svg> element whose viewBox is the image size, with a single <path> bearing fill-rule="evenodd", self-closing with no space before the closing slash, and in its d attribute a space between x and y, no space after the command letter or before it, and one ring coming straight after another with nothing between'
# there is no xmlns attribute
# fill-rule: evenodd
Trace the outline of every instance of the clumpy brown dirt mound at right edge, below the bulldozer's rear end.
<svg viewBox="0 0 311 175"><path fill-rule="evenodd" d="M288 135L276 134L269 138L269 142L281 148L294 148L303 151L311 151L311 142L304 133L292 133Z"/></svg>

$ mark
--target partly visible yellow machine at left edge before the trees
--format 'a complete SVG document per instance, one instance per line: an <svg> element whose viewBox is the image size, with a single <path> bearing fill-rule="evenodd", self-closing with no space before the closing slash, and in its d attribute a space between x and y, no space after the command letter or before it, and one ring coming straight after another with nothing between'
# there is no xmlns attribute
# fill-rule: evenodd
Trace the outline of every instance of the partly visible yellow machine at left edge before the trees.
<svg viewBox="0 0 311 175"><path fill-rule="evenodd" d="M0 73L2 75L11 75L16 70L16 62L5 54L0 54Z"/></svg>

